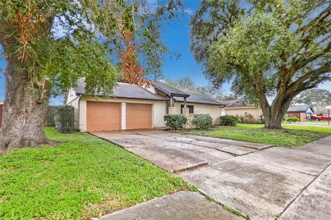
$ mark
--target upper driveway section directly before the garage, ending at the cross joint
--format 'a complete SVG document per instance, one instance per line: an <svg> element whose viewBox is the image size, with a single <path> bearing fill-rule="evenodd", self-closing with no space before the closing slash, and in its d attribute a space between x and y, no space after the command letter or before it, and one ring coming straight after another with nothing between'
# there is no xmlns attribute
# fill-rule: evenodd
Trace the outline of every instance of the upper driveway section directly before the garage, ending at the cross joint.
<svg viewBox="0 0 331 220"><path fill-rule="evenodd" d="M123 146L126 150L170 172L213 164L270 147L266 144L199 135L180 135L163 130L93 132L92 134Z"/></svg>

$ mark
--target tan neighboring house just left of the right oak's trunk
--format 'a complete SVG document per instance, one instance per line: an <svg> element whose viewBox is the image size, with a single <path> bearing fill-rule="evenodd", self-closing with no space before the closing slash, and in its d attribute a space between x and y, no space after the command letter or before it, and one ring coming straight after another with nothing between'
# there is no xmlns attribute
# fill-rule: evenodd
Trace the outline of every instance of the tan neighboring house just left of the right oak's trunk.
<svg viewBox="0 0 331 220"><path fill-rule="evenodd" d="M255 107L253 104L246 104L242 100L229 100L229 101L219 101L224 104L225 107L222 108L221 115L238 115L243 116L245 113L252 115L253 122L259 122L260 116L262 115L262 110Z"/></svg>

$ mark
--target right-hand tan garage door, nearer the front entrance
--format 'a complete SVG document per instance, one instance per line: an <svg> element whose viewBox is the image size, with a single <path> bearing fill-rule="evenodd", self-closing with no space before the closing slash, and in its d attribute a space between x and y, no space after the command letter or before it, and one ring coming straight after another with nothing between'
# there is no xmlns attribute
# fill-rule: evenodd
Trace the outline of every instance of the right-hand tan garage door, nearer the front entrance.
<svg viewBox="0 0 331 220"><path fill-rule="evenodd" d="M152 104L126 104L126 129L152 129Z"/></svg>

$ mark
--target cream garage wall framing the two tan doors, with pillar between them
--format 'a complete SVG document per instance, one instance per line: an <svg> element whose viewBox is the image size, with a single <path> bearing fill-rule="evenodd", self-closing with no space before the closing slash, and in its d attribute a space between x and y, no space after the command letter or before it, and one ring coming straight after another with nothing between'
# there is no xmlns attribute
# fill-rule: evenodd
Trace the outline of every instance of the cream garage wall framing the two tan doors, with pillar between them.
<svg viewBox="0 0 331 220"><path fill-rule="evenodd" d="M79 129L82 132L86 131L86 102L121 102L121 129L126 129L126 117L123 116L123 111L126 108L123 107L123 103L139 103L139 104L152 104L152 128L163 128L165 122L163 116L165 115L165 102L154 100L133 100L125 98L93 98L93 97L81 97L79 100ZM126 104L125 104L126 105ZM125 113L124 113L125 114Z"/></svg>

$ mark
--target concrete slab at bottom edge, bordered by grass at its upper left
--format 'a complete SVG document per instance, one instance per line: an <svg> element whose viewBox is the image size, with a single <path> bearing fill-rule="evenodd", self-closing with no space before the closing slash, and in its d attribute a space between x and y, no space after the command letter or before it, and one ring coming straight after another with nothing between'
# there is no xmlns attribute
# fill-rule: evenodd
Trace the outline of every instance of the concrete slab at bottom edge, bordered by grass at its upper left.
<svg viewBox="0 0 331 220"><path fill-rule="evenodd" d="M101 220L240 220L197 192L181 191L105 215Z"/></svg>

